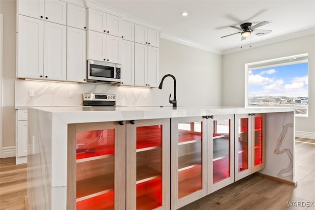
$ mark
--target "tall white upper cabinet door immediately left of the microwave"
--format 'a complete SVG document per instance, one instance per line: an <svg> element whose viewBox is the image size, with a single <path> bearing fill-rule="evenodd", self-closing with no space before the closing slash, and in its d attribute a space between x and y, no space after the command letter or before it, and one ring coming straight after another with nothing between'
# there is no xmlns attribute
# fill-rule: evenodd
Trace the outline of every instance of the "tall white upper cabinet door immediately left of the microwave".
<svg viewBox="0 0 315 210"><path fill-rule="evenodd" d="M87 31L67 27L67 81L86 82Z"/></svg>

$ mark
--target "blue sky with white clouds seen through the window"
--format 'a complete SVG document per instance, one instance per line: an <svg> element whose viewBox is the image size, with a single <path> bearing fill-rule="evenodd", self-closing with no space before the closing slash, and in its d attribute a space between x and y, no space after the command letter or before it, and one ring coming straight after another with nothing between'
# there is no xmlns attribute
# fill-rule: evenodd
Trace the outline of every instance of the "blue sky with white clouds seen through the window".
<svg viewBox="0 0 315 210"><path fill-rule="evenodd" d="M308 63L248 72L248 96L308 96Z"/></svg>

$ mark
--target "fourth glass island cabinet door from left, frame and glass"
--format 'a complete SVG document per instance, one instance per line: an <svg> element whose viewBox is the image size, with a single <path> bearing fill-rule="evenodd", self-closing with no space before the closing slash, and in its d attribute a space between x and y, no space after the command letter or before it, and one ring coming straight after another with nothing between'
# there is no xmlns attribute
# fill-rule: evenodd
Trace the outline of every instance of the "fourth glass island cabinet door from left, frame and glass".
<svg viewBox="0 0 315 210"><path fill-rule="evenodd" d="M234 115L214 116L209 131L208 193L212 193L234 182Z"/></svg>

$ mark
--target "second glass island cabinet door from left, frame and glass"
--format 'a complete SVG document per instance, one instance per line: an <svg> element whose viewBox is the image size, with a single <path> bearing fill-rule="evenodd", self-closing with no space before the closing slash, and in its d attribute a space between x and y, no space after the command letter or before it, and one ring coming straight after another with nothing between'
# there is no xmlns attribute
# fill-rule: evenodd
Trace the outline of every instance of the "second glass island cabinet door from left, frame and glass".
<svg viewBox="0 0 315 210"><path fill-rule="evenodd" d="M169 135L169 119L127 124L126 209L169 207Z"/></svg>

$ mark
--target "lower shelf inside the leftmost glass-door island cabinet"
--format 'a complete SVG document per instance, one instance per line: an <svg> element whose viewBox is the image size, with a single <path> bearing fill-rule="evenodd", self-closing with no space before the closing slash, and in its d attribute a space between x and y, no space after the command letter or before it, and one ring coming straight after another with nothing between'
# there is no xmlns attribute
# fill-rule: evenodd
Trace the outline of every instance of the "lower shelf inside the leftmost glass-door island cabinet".
<svg viewBox="0 0 315 210"><path fill-rule="evenodd" d="M77 181L77 199L83 201L114 190L114 174Z"/></svg>

